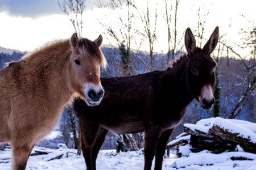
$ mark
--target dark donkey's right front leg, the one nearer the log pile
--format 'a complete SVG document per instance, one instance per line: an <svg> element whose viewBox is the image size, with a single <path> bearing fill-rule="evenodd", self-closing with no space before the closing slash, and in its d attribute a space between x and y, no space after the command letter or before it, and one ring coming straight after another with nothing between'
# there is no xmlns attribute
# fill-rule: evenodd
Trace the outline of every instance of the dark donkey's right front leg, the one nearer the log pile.
<svg viewBox="0 0 256 170"><path fill-rule="evenodd" d="M163 164L163 156L166 151L166 146L170 135L174 129L168 129L163 131L160 135L158 144L156 145L156 152L155 152L155 170L162 169Z"/></svg>

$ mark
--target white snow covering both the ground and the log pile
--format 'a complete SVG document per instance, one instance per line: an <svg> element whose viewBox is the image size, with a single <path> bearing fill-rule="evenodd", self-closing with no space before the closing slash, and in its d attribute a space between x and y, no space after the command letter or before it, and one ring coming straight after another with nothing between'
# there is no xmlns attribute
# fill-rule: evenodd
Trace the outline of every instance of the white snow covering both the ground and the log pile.
<svg viewBox="0 0 256 170"><path fill-rule="evenodd" d="M207 131L212 126L218 125L233 133L237 133L241 137L249 138L252 142L256 142L255 124L240 120L225 120L220 117L208 118L197 122L199 128L191 126L194 130ZM187 125L186 125L187 126ZM60 135L57 132L52 132L47 138L54 138ZM189 136L179 135L174 141L168 143L178 142L180 140L189 140ZM76 150L69 149L64 144L59 144L58 149L50 149L43 147L34 147L32 154L35 151L48 152L47 155L30 156L27 163L27 168L34 169L86 169L84 158L76 155ZM244 152L238 145L236 152L223 152L221 154L212 154L208 150L193 153L190 145L179 147L179 153L183 156L177 158L175 154L170 154L168 158L163 160L163 169L241 169L241 170L255 170L256 169L256 154ZM59 157L59 159L54 159ZM232 160L233 158L246 158L247 160ZM154 161L152 168L154 169ZM97 169L143 169L144 155L142 151L131 151L116 153L115 150L101 150L98 154ZM0 169L10 169L11 167L11 149L6 147L5 150L0 150Z"/></svg>

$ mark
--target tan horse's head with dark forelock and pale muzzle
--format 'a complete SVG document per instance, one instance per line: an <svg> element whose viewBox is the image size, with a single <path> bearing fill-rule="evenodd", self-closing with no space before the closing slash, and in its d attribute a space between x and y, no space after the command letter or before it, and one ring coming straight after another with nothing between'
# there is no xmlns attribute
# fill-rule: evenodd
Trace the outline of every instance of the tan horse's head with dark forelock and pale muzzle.
<svg viewBox="0 0 256 170"><path fill-rule="evenodd" d="M106 59L100 50L102 36L90 41L74 33L71 43L71 88L88 105L98 105L104 95L101 86L100 66L106 67Z"/></svg>

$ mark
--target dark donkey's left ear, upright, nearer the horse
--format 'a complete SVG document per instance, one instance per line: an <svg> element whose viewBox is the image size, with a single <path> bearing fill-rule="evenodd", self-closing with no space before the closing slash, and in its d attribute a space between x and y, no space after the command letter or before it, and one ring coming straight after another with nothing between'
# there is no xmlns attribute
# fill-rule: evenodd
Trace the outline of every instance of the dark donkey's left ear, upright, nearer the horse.
<svg viewBox="0 0 256 170"><path fill-rule="evenodd" d="M196 52L196 39L190 28L185 32L185 47L188 54L195 54Z"/></svg>

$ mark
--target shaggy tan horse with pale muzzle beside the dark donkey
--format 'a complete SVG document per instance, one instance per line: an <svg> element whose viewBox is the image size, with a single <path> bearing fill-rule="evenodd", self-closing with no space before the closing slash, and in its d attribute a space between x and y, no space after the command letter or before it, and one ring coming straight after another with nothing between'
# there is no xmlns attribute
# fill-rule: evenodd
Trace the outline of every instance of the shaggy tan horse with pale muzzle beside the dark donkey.
<svg viewBox="0 0 256 170"><path fill-rule="evenodd" d="M32 148L57 124L63 108L79 96L100 103L102 36L52 42L0 71L0 142L10 142L13 169L25 169Z"/></svg>

